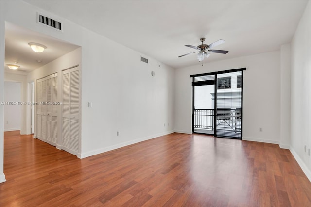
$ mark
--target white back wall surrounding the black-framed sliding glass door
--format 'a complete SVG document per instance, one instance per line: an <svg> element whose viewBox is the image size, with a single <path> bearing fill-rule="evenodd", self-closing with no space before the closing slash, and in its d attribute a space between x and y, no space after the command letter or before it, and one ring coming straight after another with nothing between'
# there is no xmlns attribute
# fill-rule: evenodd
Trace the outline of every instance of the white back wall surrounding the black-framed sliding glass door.
<svg viewBox="0 0 311 207"><path fill-rule="evenodd" d="M279 143L280 52L266 52L175 71L175 130L191 133L190 75L246 68L243 72L243 140ZM262 128L262 132L259 132Z"/></svg>

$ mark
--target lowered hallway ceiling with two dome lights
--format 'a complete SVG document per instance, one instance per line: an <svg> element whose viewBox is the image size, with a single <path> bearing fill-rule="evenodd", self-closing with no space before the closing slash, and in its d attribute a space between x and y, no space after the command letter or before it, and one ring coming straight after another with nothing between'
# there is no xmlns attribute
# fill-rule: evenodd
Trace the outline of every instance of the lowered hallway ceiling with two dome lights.
<svg viewBox="0 0 311 207"><path fill-rule="evenodd" d="M28 43L35 42L45 45L44 52L34 52ZM58 57L73 51L79 46L69 44L59 39L5 23L5 72L27 73L37 69ZM38 63L37 61L41 61ZM15 63L17 62L17 64ZM16 64L20 68L17 71L10 70L6 64ZM21 73L22 71L23 73Z"/></svg>

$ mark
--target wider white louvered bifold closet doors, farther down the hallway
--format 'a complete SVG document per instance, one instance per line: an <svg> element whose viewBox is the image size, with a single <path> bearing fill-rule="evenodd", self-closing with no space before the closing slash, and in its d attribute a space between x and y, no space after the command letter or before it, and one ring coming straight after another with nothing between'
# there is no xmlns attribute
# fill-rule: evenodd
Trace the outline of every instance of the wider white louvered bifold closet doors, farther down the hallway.
<svg viewBox="0 0 311 207"><path fill-rule="evenodd" d="M36 137L53 146L57 145L57 91L57 73L37 80Z"/></svg>

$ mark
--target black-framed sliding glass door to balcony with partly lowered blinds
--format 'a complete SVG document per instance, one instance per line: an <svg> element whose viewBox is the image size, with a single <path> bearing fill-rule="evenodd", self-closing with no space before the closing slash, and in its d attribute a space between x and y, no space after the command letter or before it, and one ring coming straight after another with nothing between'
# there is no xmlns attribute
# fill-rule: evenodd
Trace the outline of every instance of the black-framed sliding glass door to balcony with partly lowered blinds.
<svg viewBox="0 0 311 207"><path fill-rule="evenodd" d="M243 70L190 76L193 133L242 139Z"/></svg>

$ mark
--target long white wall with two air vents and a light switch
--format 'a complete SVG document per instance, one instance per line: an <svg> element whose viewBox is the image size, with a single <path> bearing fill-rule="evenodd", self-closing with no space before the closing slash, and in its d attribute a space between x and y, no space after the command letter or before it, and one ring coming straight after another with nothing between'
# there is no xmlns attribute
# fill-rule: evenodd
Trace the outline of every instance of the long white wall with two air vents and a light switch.
<svg viewBox="0 0 311 207"><path fill-rule="evenodd" d="M49 17L55 15L23 1L0 3L1 34L2 25L8 21L82 47L79 157L173 132L174 69L61 17L57 19L63 22L63 32L37 24L38 11ZM1 63L3 48L1 44ZM120 56L120 51L124 55ZM140 55L149 58L149 64L140 62ZM154 77L151 71L155 71ZM40 72L46 73L43 69ZM93 107L88 108L87 102L92 102Z"/></svg>

